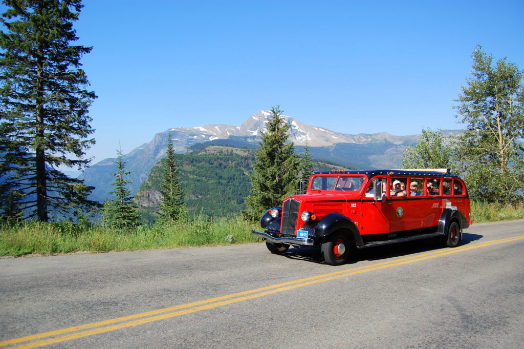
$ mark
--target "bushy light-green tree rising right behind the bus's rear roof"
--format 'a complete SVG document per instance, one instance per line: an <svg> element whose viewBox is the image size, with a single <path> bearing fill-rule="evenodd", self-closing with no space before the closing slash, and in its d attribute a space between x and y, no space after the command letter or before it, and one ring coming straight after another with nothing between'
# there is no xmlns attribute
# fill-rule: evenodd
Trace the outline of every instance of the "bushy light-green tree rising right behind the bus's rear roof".
<svg viewBox="0 0 524 349"><path fill-rule="evenodd" d="M402 168L451 168L453 146L442 132L422 129L418 143L408 146L402 157Z"/></svg>

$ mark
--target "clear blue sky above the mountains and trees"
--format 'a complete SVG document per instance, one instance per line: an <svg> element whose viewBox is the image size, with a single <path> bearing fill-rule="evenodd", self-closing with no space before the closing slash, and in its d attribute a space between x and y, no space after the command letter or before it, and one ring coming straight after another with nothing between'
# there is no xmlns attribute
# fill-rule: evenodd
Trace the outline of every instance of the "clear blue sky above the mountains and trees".
<svg viewBox="0 0 524 349"><path fill-rule="evenodd" d="M93 163L169 128L242 124L280 105L301 122L395 135L459 129L476 45L524 69L520 1L84 0L75 29ZM2 13L5 5L0 5Z"/></svg>

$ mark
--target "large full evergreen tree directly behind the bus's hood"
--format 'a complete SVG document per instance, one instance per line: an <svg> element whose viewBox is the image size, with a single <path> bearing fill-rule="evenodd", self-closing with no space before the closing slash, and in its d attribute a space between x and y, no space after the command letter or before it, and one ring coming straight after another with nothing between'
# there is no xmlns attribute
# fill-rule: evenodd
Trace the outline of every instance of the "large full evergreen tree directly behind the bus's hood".
<svg viewBox="0 0 524 349"><path fill-rule="evenodd" d="M288 142L290 126L279 106L271 107L271 113L255 154L253 174L249 175L253 188L243 215L250 220L259 219L265 210L280 206L283 198L298 191L299 161L293 143Z"/></svg>

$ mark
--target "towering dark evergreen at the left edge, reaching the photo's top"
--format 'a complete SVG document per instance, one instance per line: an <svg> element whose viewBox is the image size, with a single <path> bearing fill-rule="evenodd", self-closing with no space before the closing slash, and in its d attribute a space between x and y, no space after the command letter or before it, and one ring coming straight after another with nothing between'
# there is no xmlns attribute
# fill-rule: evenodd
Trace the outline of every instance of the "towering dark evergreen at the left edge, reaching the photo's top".
<svg viewBox="0 0 524 349"><path fill-rule="evenodd" d="M82 170L93 130L88 109L96 98L80 57L90 47L78 40L72 23L80 0L4 0L0 18L0 154L4 184L24 193L28 218L49 219L50 211L93 207L93 187L57 170Z"/></svg>

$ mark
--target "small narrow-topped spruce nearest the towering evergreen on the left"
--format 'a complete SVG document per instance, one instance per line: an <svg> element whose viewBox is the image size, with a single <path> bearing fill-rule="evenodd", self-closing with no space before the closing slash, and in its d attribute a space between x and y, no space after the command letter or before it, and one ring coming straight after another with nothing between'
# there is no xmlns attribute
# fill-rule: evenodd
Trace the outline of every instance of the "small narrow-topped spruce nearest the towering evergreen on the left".
<svg viewBox="0 0 524 349"><path fill-rule="evenodd" d="M102 220L108 226L115 228L134 227L138 225L140 215L138 207L133 202L131 191L127 188L131 181L125 179L125 176L130 172L125 171L126 163L122 160L122 150L118 149L116 152L118 154L115 161L116 173L112 174L115 176L112 183L114 190L111 192L114 199L108 199L104 203Z"/></svg>

